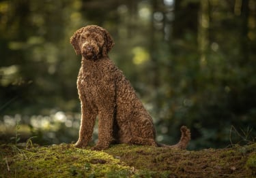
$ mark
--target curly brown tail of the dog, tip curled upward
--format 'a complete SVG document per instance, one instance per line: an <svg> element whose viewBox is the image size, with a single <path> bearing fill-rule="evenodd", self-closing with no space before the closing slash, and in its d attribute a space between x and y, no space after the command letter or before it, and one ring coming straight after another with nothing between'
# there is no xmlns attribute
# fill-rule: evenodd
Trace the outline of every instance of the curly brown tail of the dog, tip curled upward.
<svg viewBox="0 0 256 178"><path fill-rule="evenodd" d="M160 144L158 145L160 147L170 147L170 148L176 148L176 149L186 149L188 146L188 143L191 139L191 133L190 130L186 126L182 126L180 128L180 132L182 132L182 136L180 137L180 141L175 144L175 145L165 145L165 144Z"/></svg>

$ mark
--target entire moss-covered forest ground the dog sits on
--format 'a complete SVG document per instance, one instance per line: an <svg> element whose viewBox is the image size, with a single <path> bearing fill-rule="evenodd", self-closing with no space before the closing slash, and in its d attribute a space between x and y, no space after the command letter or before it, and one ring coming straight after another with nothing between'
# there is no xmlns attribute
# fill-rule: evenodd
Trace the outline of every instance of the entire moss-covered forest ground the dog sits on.
<svg viewBox="0 0 256 178"><path fill-rule="evenodd" d="M256 177L256 143L188 151L112 145L0 145L0 177Z"/></svg>

